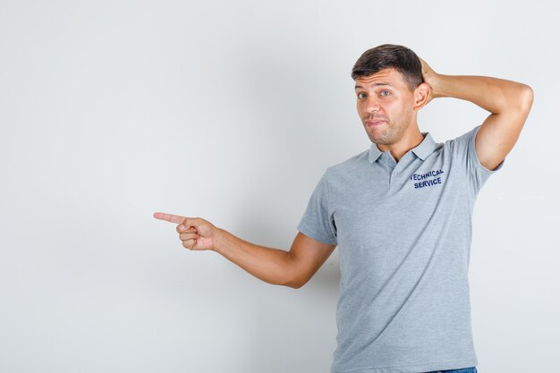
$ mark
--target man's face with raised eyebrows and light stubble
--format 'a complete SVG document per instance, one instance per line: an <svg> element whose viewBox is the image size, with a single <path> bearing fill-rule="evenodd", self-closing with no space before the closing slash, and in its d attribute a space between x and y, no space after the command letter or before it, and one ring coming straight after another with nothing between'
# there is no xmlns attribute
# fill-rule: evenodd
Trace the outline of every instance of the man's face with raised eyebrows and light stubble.
<svg viewBox="0 0 560 373"><path fill-rule="evenodd" d="M414 91L401 72L385 69L355 82L358 114L369 140L382 145L401 140L414 114Z"/></svg>

